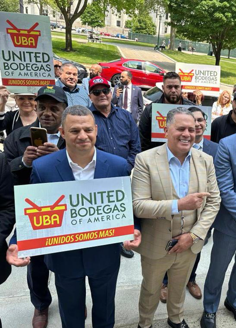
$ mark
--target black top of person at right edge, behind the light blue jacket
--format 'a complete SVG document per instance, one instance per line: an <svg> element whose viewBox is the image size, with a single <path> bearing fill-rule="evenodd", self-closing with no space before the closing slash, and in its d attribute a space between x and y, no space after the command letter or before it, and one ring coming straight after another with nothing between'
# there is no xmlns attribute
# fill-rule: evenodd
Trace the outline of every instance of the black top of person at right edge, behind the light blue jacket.
<svg viewBox="0 0 236 328"><path fill-rule="evenodd" d="M231 110L228 114L215 118L211 123L211 141L219 143L222 138L229 135L229 133L225 133L225 131L230 124L229 120L232 112Z"/></svg>

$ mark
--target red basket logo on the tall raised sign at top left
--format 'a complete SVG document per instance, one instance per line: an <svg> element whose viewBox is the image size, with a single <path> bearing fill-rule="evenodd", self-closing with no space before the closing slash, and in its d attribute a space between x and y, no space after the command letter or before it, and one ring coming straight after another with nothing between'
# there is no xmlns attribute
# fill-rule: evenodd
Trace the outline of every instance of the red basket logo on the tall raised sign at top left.
<svg viewBox="0 0 236 328"><path fill-rule="evenodd" d="M11 36L12 43L14 47L21 48L37 48L38 37L41 35L41 32L35 30L35 27L38 26L38 23L35 23L30 29L18 29L10 20L7 19L7 23L12 28L7 28L7 34Z"/></svg>

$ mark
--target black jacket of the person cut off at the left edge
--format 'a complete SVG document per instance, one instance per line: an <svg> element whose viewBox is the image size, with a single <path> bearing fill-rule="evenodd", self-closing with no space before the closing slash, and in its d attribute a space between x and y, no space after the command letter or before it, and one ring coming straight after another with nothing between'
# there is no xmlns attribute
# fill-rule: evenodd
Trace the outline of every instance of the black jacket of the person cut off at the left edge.
<svg viewBox="0 0 236 328"><path fill-rule="evenodd" d="M0 284L11 273L11 265L6 261L8 249L6 238L15 224L14 190L10 167L4 153L0 153Z"/></svg>

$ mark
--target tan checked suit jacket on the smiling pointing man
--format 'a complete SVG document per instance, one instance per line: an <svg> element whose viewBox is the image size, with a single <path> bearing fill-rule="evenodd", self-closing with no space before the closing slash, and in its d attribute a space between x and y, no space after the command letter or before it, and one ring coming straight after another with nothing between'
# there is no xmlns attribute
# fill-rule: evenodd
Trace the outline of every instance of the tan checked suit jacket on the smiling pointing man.
<svg viewBox="0 0 236 328"><path fill-rule="evenodd" d="M186 222L186 229L183 232L191 229L202 239L191 247L192 252L197 254L201 251L207 231L219 211L221 198L212 156L194 148L191 149L191 154L190 185L196 186L196 192L210 193L197 211L182 211L182 217ZM194 176L196 180L193 180ZM166 255L167 242L174 237L173 194L175 193L166 144L137 154L132 177L132 198L134 214L142 218L142 242L137 249L141 255L153 259ZM179 216L181 215L183 214L180 213ZM189 222L192 223L189 225Z"/></svg>

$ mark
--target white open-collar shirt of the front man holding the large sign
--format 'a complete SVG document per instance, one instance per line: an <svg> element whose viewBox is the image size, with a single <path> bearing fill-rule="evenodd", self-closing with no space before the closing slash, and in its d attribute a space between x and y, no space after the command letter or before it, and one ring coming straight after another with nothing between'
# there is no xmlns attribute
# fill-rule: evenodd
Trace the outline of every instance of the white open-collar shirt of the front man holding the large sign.
<svg viewBox="0 0 236 328"><path fill-rule="evenodd" d="M75 180L92 180L94 178L94 172L96 167L96 148L94 147L93 159L88 163L84 168L80 167L78 164L73 163L68 152L66 151L66 156L69 162L69 165L72 169Z"/></svg>

